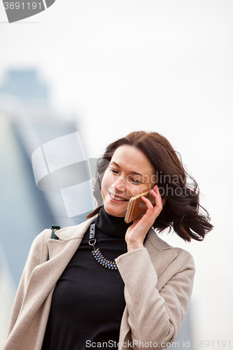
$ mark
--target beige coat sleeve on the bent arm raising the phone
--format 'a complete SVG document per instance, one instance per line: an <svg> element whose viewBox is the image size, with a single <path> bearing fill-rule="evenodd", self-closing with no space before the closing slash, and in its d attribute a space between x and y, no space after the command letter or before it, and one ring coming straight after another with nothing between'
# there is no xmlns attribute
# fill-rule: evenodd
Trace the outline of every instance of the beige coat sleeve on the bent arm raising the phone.
<svg viewBox="0 0 233 350"><path fill-rule="evenodd" d="M176 251L176 258L161 274L159 283L146 248L130 251L116 259L125 282L125 302L134 349L143 348L139 341L148 342L151 347L156 343L157 349L166 348L166 344L174 342L185 318L195 264L190 253L179 248Z"/></svg>

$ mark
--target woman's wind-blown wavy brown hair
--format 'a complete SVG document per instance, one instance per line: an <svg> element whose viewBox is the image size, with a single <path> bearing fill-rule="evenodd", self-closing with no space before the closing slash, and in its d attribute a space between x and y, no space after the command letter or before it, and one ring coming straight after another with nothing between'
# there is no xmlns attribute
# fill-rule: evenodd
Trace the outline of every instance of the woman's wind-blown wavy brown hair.
<svg viewBox="0 0 233 350"><path fill-rule="evenodd" d="M87 218L99 213L102 207L101 181L113 153L123 145L133 146L146 155L156 174L157 185L164 193L166 202L153 228L160 232L165 228L174 229L185 241L202 241L212 230L206 209L199 204L197 182L184 169L181 155L174 151L169 141L157 132L132 132L106 147L104 155L97 161L97 172L93 181L93 195L97 208Z"/></svg>

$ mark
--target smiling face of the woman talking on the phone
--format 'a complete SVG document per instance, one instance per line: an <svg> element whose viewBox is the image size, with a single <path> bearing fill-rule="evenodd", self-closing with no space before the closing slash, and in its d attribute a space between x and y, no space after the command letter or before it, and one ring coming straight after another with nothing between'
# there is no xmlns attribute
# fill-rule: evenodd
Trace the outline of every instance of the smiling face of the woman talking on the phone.
<svg viewBox="0 0 233 350"><path fill-rule="evenodd" d="M120 146L104 173L101 186L104 209L110 215L124 217L130 198L153 186L153 166L146 155L132 146Z"/></svg>

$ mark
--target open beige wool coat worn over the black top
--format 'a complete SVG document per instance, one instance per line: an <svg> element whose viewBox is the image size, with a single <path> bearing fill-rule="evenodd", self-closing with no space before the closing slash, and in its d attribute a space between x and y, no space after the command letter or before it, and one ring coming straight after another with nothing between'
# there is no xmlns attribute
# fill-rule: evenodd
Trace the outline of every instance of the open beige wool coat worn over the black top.
<svg viewBox="0 0 233 350"><path fill-rule="evenodd" d="M59 240L50 238L51 230L34 239L3 350L41 349L57 279L91 221L59 230ZM46 261L48 251L50 260ZM195 274L192 255L169 246L150 229L145 248L122 254L116 262L125 283L126 302L119 349L148 349L147 342L149 348L164 349L174 341L188 311Z"/></svg>

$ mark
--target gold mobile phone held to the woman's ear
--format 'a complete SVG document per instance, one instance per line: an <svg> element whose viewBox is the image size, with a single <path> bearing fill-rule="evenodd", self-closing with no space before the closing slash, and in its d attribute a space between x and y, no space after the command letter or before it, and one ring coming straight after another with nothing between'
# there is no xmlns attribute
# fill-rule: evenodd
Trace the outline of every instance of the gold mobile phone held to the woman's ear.
<svg viewBox="0 0 233 350"><path fill-rule="evenodd" d="M143 214L146 213L146 203L143 202L141 196L148 198L148 200L150 200L150 202L153 204L153 207L155 207L155 198L153 197L153 195L150 195L150 190L130 198L125 214L126 223L131 223L132 221L136 220L136 218L140 218L141 216L143 216Z"/></svg>

